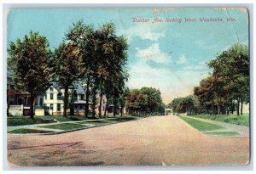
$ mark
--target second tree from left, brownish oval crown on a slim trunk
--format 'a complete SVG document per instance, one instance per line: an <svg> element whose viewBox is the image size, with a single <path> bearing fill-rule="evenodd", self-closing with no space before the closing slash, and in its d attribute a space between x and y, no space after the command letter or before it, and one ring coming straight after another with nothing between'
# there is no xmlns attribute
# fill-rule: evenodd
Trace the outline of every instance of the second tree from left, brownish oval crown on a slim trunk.
<svg viewBox="0 0 256 174"><path fill-rule="evenodd" d="M77 45L74 42L62 42L55 48L53 64L55 81L64 88L63 116L67 116L68 89L79 79L82 71L82 59Z"/></svg>

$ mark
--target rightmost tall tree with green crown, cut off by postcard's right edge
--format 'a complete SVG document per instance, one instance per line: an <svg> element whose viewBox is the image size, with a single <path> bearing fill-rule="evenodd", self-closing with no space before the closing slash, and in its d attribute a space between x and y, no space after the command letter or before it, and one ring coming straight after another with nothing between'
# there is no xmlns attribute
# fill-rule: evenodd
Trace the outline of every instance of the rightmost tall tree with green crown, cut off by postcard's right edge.
<svg viewBox="0 0 256 174"><path fill-rule="evenodd" d="M242 104L249 101L249 56L248 48L240 43L219 53L217 59L209 62L212 76L218 81L218 93L223 103L236 100L237 115L242 114ZM219 84L221 83L221 85ZM227 105L227 104L226 104Z"/></svg>

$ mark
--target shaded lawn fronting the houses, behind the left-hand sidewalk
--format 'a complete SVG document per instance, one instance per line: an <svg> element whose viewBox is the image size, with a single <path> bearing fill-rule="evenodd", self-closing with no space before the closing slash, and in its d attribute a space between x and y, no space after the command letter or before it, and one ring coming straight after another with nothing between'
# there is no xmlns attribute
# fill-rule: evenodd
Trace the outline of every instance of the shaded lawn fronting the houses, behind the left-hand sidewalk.
<svg viewBox="0 0 256 174"><path fill-rule="evenodd" d="M61 115L55 116L34 116L34 120L30 119L29 116L11 116L7 117L7 126L21 126L21 125L32 125L32 124L40 124L43 119L55 119L60 122L65 121L84 121L88 120L84 116L77 115L68 115L67 117Z"/></svg>

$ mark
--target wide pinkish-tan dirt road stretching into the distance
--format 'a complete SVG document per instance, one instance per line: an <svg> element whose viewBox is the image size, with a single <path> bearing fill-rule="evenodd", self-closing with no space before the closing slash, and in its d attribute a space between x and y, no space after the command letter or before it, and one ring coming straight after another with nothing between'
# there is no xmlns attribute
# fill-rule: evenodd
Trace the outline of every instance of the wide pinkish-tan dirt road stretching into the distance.
<svg viewBox="0 0 256 174"><path fill-rule="evenodd" d="M8 135L18 166L244 165L249 138L212 137L177 116L155 116L59 135Z"/></svg>

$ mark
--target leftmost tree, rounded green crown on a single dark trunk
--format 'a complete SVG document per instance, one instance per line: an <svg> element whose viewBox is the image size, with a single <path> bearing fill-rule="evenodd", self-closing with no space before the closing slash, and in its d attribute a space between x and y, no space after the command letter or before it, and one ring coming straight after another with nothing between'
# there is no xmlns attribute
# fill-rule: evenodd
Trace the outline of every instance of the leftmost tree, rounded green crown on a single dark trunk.
<svg viewBox="0 0 256 174"><path fill-rule="evenodd" d="M34 115L34 99L49 85L49 42L45 36L30 31L23 40L10 42L8 65L15 89L30 94L30 117Z"/></svg>

